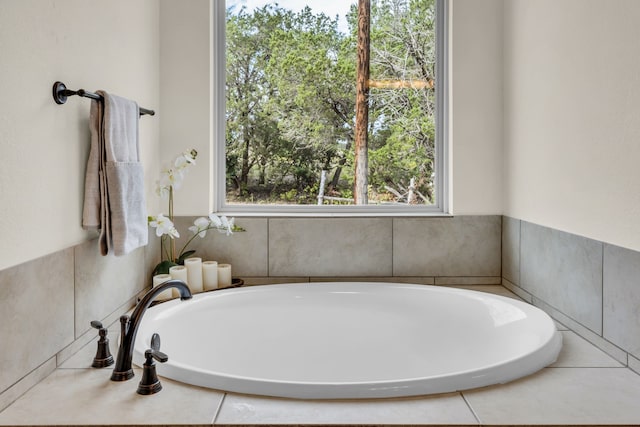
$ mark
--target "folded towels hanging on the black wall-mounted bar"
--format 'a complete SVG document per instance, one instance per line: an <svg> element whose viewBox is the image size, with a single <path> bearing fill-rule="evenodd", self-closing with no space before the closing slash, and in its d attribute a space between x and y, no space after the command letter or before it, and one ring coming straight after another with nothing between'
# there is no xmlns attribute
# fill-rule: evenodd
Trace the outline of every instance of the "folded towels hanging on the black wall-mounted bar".
<svg viewBox="0 0 640 427"><path fill-rule="evenodd" d="M144 175L138 144L138 105L98 91L91 101L91 150L82 225L100 230L102 255L126 255L147 244Z"/></svg>

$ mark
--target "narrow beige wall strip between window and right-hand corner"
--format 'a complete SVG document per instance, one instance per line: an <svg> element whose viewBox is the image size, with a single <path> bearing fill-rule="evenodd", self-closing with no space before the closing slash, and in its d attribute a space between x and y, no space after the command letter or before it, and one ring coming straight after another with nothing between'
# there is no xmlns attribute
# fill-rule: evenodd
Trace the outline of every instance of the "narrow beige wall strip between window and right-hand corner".
<svg viewBox="0 0 640 427"><path fill-rule="evenodd" d="M451 0L452 207L502 213L502 0Z"/></svg>

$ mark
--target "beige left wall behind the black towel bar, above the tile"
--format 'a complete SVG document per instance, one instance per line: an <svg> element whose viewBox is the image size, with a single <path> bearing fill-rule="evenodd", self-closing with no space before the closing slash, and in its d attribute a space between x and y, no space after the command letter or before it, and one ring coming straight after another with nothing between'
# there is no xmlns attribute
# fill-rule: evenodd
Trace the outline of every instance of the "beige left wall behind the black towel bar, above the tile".
<svg viewBox="0 0 640 427"><path fill-rule="evenodd" d="M57 105L51 88L105 89L158 110L158 4L0 0L0 52L1 270L94 237L80 226L90 100ZM140 121L149 193L158 113Z"/></svg>

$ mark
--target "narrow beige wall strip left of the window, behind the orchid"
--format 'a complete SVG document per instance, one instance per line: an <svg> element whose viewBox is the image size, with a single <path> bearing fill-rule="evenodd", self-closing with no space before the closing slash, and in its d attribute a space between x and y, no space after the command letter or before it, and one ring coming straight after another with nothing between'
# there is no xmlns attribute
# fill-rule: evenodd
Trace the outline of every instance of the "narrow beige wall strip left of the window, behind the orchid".
<svg viewBox="0 0 640 427"><path fill-rule="evenodd" d="M206 215L212 209L210 8L210 0L160 1L162 162L169 164L190 148L198 151L196 167L176 191L176 215ZM161 210L167 212L166 201Z"/></svg>

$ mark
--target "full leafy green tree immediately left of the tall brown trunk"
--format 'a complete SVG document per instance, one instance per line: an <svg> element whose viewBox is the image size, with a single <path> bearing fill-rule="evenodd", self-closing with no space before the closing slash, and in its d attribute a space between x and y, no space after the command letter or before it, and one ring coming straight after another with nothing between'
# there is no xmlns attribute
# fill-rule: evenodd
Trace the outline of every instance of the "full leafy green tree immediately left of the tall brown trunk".
<svg viewBox="0 0 640 427"><path fill-rule="evenodd" d="M285 15L271 39L271 52L270 114L283 137L306 154L313 179L333 169L335 186L353 140L352 41L338 31L337 19L314 15L307 7Z"/></svg>

